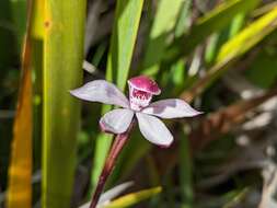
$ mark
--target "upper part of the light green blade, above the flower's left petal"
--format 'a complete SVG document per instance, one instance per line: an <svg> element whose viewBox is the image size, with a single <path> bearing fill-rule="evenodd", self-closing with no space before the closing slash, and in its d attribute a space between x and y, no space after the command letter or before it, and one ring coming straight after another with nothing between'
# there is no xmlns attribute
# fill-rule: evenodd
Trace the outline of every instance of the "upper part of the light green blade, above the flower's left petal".
<svg viewBox="0 0 277 208"><path fill-rule="evenodd" d="M107 79L124 91L136 44L143 0L118 0L107 59ZM111 79L111 73L113 78Z"/></svg>

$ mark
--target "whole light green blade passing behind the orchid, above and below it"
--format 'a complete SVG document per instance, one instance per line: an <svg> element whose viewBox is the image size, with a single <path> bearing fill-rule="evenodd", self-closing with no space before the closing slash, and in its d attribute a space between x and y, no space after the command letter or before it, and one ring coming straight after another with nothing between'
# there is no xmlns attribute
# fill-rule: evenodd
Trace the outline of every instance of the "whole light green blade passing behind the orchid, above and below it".
<svg viewBox="0 0 277 208"><path fill-rule="evenodd" d="M143 0L117 0L116 4L115 22L107 58L106 80L115 82L123 91L128 78L142 5ZM105 106L102 113L109 109L112 109L112 106ZM96 138L91 192L99 180L111 143L112 136L101 134Z"/></svg>

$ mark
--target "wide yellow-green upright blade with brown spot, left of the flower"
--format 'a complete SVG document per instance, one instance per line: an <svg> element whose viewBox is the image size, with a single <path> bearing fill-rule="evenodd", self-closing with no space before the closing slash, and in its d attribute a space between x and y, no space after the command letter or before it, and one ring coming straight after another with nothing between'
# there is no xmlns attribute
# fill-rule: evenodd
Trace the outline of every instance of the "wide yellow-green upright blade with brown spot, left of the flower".
<svg viewBox="0 0 277 208"><path fill-rule="evenodd" d="M85 0L45 1L43 208L70 207L80 125Z"/></svg>

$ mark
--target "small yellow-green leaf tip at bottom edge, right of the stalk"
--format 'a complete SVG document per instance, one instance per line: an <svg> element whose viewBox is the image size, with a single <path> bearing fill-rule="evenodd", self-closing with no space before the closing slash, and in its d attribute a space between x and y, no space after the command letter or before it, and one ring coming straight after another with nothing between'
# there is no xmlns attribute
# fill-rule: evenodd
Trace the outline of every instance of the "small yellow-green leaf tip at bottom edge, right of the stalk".
<svg viewBox="0 0 277 208"><path fill-rule="evenodd" d="M162 192L162 187L158 186L154 188L149 188L145 190L140 190L137 193L127 194L118 199L113 200L107 206L104 206L105 208L124 208L124 207L130 207L132 205L136 205L140 203L141 200L145 200L147 198L150 198L152 196L155 196L157 194Z"/></svg>

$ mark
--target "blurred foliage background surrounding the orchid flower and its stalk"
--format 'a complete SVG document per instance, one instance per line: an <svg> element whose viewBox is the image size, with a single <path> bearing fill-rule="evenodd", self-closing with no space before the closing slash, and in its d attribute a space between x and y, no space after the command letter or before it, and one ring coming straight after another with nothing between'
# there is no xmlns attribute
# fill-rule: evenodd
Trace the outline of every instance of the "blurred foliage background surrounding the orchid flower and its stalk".
<svg viewBox="0 0 277 208"><path fill-rule="evenodd" d="M276 28L275 0L1 0L0 207L89 201L111 107L69 90L137 74L205 114L169 149L136 128L101 207L277 207Z"/></svg>

